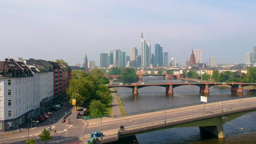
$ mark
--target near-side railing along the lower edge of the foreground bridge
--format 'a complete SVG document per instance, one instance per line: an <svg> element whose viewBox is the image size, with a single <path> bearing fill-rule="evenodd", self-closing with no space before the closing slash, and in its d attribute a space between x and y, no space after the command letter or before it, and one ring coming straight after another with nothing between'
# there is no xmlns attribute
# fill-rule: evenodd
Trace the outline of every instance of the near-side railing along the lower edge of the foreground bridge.
<svg viewBox="0 0 256 144"><path fill-rule="evenodd" d="M208 112L208 113L200 113L200 114L192 115L192 116L185 116L185 117L180 117L180 118L167 119L166 122L165 121L159 121L159 122L136 125L134 127L125 128L125 131L127 131L127 130L136 130L136 129L141 129L141 128L148 128L148 127L153 127L155 125L162 125L162 124L167 124L167 123L179 122L179 121L184 121L184 120L193 119L193 118L200 118L200 117L205 117L205 116L210 116L210 115L216 115L217 113L236 111L236 110L241 110L241 109L247 109L247 108L250 108L250 107L256 107L256 104L232 107L230 109L224 109L223 111L222 110L217 110L217 111ZM120 133L121 133L121 131L120 131Z"/></svg>

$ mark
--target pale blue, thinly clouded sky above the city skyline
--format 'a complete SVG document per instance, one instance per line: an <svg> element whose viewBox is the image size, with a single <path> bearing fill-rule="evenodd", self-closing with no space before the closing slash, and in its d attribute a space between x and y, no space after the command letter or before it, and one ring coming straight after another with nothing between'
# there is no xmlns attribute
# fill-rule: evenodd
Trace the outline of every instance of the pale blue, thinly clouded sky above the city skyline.
<svg viewBox="0 0 256 144"><path fill-rule="evenodd" d="M141 32L185 64L192 49L202 62L244 63L256 45L256 1L2 0L0 61L35 58L100 65L100 53L141 53Z"/></svg>

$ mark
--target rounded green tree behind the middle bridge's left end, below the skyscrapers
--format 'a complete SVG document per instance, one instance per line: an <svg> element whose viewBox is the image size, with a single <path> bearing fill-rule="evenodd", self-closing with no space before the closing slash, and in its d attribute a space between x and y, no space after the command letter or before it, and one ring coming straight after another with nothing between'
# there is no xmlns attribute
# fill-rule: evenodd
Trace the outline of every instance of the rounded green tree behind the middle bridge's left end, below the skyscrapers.
<svg viewBox="0 0 256 144"><path fill-rule="evenodd" d="M138 75L136 74L135 69L125 68L122 72L122 81L123 82L134 82L138 81Z"/></svg>

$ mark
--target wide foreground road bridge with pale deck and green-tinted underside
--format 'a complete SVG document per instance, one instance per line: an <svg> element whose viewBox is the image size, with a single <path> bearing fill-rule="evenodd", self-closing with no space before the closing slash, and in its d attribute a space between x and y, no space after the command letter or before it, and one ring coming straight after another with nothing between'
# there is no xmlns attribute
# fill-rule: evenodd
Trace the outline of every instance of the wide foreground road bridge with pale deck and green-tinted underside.
<svg viewBox="0 0 256 144"><path fill-rule="evenodd" d="M199 127L200 130L206 130L219 138L224 138L223 124L248 112L256 111L255 102L256 98L244 98L208 103L205 104L205 109L201 104L121 118L103 117L101 123L88 121L90 124L85 137L90 139L90 131L102 129L104 136L98 137L98 140L101 143L107 143L117 141L120 137L151 131L178 127ZM124 125L124 130L119 128L120 125Z"/></svg>

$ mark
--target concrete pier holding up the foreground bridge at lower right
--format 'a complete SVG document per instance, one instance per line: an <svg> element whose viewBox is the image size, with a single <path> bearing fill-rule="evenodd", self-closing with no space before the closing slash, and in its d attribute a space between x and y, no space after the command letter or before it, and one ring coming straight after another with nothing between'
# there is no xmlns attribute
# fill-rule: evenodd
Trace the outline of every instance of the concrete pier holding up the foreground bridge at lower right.
<svg viewBox="0 0 256 144"><path fill-rule="evenodd" d="M206 127L199 127L201 131L206 130L212 133L213 135L217 136L220 139L223 139L225 137L225 133L223 130L223 125L213 125L213 126L206 126Z"/></svg>

